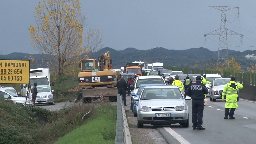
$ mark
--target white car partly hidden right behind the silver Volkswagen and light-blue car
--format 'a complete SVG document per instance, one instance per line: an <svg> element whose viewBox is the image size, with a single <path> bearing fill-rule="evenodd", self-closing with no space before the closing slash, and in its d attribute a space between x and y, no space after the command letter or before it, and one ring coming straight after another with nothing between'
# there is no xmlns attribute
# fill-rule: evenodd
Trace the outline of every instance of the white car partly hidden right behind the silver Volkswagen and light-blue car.
<svg viewBox="0 0 256 144"><path fill-rule="evenodd" d="M150 83L154 83L154 84L164 84L165 85L165 81L161 76L138 76L136 77L135 81L134 81L134 85L130 86L130 89L132 90L131 93L137 93L138 88L141 84L150 84ZM131 100L133 103L134 100L134 96L131 96Z"/></svg>

